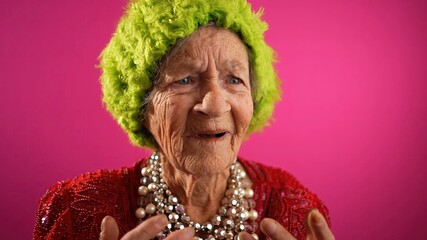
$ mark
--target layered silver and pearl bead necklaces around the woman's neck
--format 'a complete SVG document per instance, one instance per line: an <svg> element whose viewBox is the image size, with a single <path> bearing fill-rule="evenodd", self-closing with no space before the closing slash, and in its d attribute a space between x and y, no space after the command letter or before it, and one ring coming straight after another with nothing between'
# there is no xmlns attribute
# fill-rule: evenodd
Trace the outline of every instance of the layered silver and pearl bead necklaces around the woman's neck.
<svg viewBox="0 0 427 240"><path fill-rule="evenodd" d="M141 174L136 217L140 222L156 214L165 214L169 219L169 224L157 235L157 239L164 239L169 233L188 226L194 228L196 235L205 236L194 237L197 240L233 240L238 239L241 231L256 231L255 220L258 213L254 209L255 201L252 199L254 191L242 181L246 172L236 163L230 167L222 206L210 222L203 224L191 220L185 213L184 205L179 203L178 198L169 190L162 178L162 167L157 153L147 161L147 166L141 169ZM252 236L258 239L255 233L252 233Z"/></svg>

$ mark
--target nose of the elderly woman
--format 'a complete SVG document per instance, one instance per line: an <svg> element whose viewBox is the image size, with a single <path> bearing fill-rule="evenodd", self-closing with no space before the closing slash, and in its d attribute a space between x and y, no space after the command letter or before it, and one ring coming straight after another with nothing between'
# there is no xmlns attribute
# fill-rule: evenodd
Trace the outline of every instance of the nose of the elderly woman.
<svg viewBox="0 0 427 240"><path fill-rule="evenodd" d="M229 112L231 106L225 98L224 90L216 84L212 85L202 92L201 101L194 106L194 110L211 117L220 117Z"/></svg>

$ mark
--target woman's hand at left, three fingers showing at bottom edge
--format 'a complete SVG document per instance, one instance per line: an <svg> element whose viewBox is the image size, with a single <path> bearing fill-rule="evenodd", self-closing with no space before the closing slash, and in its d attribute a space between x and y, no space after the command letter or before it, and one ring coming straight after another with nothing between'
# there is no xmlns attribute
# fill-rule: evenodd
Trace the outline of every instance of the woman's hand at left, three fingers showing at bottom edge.
<svg viewBox="0 0 427 240"><path fill-rule="evenodd" d="M121 240L149 240L159 234L168 224L168 219L165 215L156 215L151 217L131 231L127 232ZM185 228L171 233L166 239L188 239L194 236L193 228ZM100 240L118 240L119 227L116 220L110 216L106 216L101 223L101 233L99 234ZM165 240L166 240L165 239Z"/></svg>

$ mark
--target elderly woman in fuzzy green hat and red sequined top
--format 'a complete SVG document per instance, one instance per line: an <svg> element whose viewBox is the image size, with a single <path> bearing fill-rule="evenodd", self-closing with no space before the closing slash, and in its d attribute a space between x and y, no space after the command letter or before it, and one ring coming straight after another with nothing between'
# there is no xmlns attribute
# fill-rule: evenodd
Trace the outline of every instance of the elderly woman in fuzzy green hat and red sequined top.
<svg viewBox="0 0 427 240"><path fill-rule="evenodd" d="M104 102L154 153L53 186L34 238L333 239L313 193L237 157L279 99L259 15L243 0L131 1L101 55Z"/></svg>

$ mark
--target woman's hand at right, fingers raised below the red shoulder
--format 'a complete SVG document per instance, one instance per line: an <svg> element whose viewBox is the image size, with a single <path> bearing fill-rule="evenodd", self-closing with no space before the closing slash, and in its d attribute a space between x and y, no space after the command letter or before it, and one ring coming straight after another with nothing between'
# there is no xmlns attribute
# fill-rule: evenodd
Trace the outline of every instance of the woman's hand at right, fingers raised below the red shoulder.
<svg viewBox="0 0 427 240"><path fill-rule="evenodd" d="M307 240L334 240L328 223L317 210L311 210L305 219ZM277 221L265 218L261 221L261 231L272 240L295 240L295 238ZM247 232L239 234L240 240L254 240Z"/></svg>

